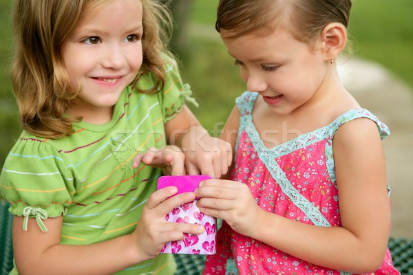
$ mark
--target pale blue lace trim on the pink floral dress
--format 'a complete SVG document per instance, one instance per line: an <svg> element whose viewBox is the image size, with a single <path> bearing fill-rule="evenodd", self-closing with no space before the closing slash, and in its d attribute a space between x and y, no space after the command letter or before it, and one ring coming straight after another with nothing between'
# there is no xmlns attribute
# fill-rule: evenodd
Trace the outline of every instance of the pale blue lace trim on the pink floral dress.
<svg viewBox="0 0 413 275"><path fill-rule="evenodd" d="M337 118L335 121L328 124L327 126L324 126L320 129L316 129L315 131L312 131L310 133L305 133L284 144L280 144L278 146L268 149L266 148L266 146L264 146L264 143L262 142L260 135L255 129L255 126L252 121L251 111L253 109L253 105L255 99L257 98L257 95L257 93L251 93L247 91L244 92L244 94L242 94L242 96L240 96L236 100L237 107L238 109L240 109L241 113L240 129L238 129L237 136L237 147L242 132L246 131L246 134L248 135L248 137L250 137L251 142L253 142L255 151L257 152L258 156L260 157L266 168L268 168L268 171L271 173L271 176L274 179L277 179L277 183L279 184L280 188L282 188L282 191L290 198L290 200L295 204L295 206L297 206L301 211L303 211L304 214L306 214L306 216L315 225L331 226L330 223L328 223L327 219L313 205L313 203L310 203L310 201L308 201L305 197L299 194L299 192L294 188L290 181L288 181L284 171L279 167L275 158L280 157L282 155L286 155L288 153L296 151L299 148L306 147L310 144L314 144L315 142L324 140L327 137L327 169L332 179L332 182L336 184L335 163L332 155L332 137L334 137L335 132L337 131L339 126L356 118L369 118L370 120L376 122L382 140L388 135L390 135L388 126L380 122L376 116L374 116L372 113L370 113L370 111L366 109L352 109L347 111L346 113L343 113L343 115L340 115L339 118ZM339 272L342 275L349 274L347 272Z"/></svg>

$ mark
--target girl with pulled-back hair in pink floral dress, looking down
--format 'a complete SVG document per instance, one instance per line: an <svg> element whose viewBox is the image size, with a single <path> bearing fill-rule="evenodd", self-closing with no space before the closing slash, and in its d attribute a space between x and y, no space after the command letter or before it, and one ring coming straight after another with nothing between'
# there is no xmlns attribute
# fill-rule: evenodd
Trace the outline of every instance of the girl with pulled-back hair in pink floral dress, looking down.
<svg viewBox="0 0 413 275"><path fill-rule="evenodd" d="M229 179L195 195L223 220L203 274L399 274L381 140L340 83L350 0L220 0L216 28L248 91L222 139Z"/></svg>

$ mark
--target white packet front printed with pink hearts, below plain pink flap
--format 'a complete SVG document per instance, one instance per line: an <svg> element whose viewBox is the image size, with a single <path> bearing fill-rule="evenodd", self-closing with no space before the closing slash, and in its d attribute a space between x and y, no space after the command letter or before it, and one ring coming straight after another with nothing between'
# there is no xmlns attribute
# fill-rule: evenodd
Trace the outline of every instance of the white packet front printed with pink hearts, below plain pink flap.
<svg viewBox="0 0 413 275"><path fill-rule="evenodd" d="M216 219L202 213L196 206L196 201L195 199L174 208L165 216L165 219L176 223L198 223L204 225L204 232L199 235L185 233L183 240L166 243L161 253L215 254Z"/></svg>

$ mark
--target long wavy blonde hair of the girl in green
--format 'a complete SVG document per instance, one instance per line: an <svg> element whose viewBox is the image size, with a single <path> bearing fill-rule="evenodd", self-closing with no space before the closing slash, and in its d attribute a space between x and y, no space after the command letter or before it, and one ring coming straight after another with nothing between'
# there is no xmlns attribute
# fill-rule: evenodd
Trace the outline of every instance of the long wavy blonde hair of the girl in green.
<svg viewBox="0 0 413 275"><path fill-rule="evenodd" d="M14 0L12 84L25 131L49 138L74 133L72 123L81 118L70 118L65 111L79 91L70 87L61 48L85 10L106 1ZM151 90L140 92L158 92L165 83L162 54L171 56L171 14L160 0L136 1L143 7L140 72L153 74L157 81Z"/></svg>

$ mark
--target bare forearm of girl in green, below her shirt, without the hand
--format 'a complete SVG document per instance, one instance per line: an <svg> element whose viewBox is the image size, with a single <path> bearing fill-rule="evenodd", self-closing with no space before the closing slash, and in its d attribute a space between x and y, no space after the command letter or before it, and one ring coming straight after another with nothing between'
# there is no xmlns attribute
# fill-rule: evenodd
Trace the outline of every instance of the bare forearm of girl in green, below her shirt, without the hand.
<svg viewBox="0 0 413 275"><path fill-rule="evenodd" d="M91 245L54 245L39 254L15 251L21 274L113 274L144 261L130 235Z"/></svg>

